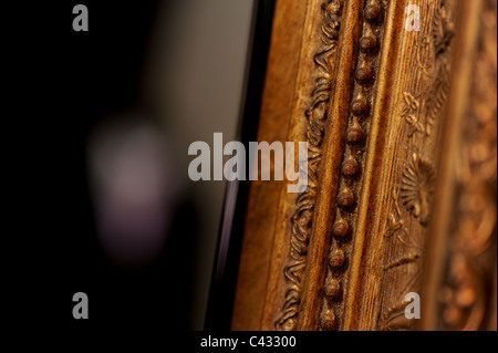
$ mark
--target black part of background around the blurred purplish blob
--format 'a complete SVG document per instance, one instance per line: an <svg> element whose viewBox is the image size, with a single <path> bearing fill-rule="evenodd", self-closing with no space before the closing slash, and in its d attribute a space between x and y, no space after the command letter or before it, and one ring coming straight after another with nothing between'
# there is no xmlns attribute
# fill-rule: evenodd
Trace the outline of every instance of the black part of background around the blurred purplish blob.
<svg viewBox="0 0 498 353"><path fill-rule="evenodd" d="M72 295L83 291L93 324L189 329L196 215L188 198L177 205L162 256L124 269L96 241L89 194L87 135L106 114L141 105L138 81L157 3L85 1L90 31L74 32L77 3L11 2L1 11L11 79L3 115L4 303L14 321L82 325L89 323L72 318Z"/></svg>

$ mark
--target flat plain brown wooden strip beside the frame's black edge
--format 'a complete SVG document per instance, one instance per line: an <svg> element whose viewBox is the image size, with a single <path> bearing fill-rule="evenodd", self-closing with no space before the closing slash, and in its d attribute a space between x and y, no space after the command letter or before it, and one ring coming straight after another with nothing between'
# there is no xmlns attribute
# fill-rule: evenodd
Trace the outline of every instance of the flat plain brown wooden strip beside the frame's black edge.
<svg viewBox="0 0 498 353"><path fill-rule="evenodd" d="M286 142L299 68L305 3L278 0L273 20L258 141ZM235 298L232 330L259 330L282 181L252 181Z"/></svg>

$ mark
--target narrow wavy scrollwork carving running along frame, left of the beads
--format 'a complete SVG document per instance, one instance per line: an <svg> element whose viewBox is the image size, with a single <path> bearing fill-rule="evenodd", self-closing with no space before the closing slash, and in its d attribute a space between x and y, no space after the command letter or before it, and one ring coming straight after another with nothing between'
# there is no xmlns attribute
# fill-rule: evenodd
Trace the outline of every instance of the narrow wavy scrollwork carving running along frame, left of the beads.
<svg viewBox="0 0 498 353"><path fill-rule="evenodd" d="M312 102L305 112L308 120L308 188L300 194L295 211L291 217L292 235L289 262L283 269L287 281L283 308L274 323L277 330L290 331L297 325L301 297L301 276L307 264L307 249L311 231L313 209L317 199L318 172L322 157L322 142L326 111L332 91L330 56L338 45L342 13L342 0L328 0L323 7L323 23L321 28L322 46L314 55L318 77Z"/></svg>

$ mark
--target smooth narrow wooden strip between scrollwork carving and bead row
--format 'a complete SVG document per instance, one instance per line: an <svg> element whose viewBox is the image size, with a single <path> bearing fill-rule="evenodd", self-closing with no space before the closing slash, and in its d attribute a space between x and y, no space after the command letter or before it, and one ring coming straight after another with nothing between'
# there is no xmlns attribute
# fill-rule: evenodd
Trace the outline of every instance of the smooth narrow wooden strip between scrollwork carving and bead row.
<svg viewBox="0 0 498 353"><path fill-rule="evenodd" d="M343 22L341 23L341 34L359 33L359 9L361 1L349 1L344 9ZM340 34L340 41L346 34ZM299 318L300 330L307 330L317 325L317 315L320 310L321 285L324 281L328 267L329 243L331 239L331 226L333 222L333 214L335 209L335 195L338 194L340 174L336 173L341 168L342 150L344 144L342 136L346 128L349 106L346 104L334 104L336 101L349 102L351 90L349 87L353 82L354 62L346 58L354 58L356 48L350 45L340 46L338 51L338 72L335 75L335 89L331 96L331 104L326 112L328 118L324 126L324 139L322 163L319 172L319 187L317 195L317 205L314 206L310 245L308 248L308 261L305 268L305 278L303 285L303 295L300 303L301 316ZM333 80L333 79L332 79ZM332 173L331 173L332 172ZM322 190L326 189L326 193ZM319 289L319 290L317 290Z"/></svg>

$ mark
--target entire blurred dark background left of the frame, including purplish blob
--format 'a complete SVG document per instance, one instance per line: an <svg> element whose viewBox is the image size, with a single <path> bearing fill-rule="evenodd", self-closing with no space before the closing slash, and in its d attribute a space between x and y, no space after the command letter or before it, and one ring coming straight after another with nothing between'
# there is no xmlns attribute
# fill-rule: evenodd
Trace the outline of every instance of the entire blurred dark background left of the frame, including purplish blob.
<svg viewBox="0 0 498 353"><path fill-rule="evenodd" d="M9 58L23 68L11 70L22 94L6 129L22 185L8 292L38 295L35 318L79 324L82 291L94 323L204 328L225 181L191 181L188 146L236 137L252 2L6 7ZM77 3L89 32L72 29Z"/></svg>

